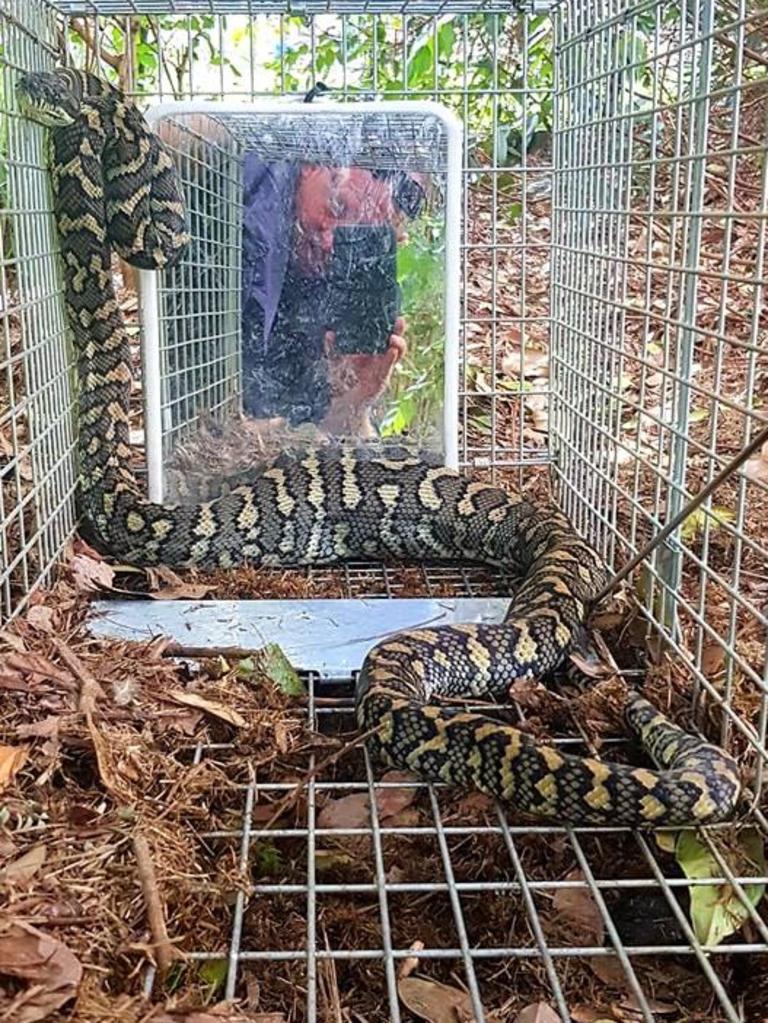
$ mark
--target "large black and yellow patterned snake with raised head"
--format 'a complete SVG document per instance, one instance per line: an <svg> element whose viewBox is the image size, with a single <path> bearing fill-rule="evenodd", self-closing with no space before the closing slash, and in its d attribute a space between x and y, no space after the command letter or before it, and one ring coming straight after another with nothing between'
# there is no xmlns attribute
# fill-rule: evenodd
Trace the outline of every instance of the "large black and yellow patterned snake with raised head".
<svg viewBox="0 0 768 1023"><path fill-rule="evenodd" d="M524 579L503 623L413 629L368 654L356 707L359 726L373 732L371 751L559 821L668 827L730 816L734 761L637 694L626 720L658 770L567 755L434 699L504 698L515 678L548 675L573 647L605 575L555 508L399 447L344 444L284 454L208 503L146 500L129 468L130 351L110 263L112 252L149 269L180 258L188 236L173 163L138 110L92 76L30 74L17 91L26 115L51 128L80 374L82 507L99 542L143 565L427 558L508 566Z"/></svg>

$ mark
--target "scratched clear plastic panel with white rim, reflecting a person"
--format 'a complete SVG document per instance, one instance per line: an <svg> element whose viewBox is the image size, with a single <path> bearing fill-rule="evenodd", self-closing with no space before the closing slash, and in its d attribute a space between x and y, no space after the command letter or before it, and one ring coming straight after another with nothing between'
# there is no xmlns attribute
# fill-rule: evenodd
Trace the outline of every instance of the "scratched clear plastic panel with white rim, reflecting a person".
<svg viewBox="0 0 768 1023"><path fill-rule="evenodd" d="M199 500L296 443L456 460L460 130L431 103L150 114L191 241L144 275L152 496Z"/></svg>

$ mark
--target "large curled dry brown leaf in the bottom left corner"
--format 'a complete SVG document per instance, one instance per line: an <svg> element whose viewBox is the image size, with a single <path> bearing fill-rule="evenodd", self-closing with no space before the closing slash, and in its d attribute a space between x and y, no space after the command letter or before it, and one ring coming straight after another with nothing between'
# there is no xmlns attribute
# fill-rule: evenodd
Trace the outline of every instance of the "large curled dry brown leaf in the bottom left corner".
<svg viewBox="0 0 768 1023"><path fill-rule="evenodd" d="M62 941L26 924L0 933L0 974L30 981L13 1023L47 1019L77 994L83 967Z"/></svg>

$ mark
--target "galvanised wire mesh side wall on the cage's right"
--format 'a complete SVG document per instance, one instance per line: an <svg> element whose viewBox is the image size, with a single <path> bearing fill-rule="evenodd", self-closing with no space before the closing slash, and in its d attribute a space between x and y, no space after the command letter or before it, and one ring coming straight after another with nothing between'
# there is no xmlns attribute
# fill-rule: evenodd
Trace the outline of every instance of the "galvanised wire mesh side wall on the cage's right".
<svg viewBox="0 0 768 1023"><path fill-rule="evenodd" d="M556 489L620 566L768 421L765 11L567 4L556 21ZM637 580L680 680L763 791L768 461ZM762 817L761 817L762 819Z"/></svg>

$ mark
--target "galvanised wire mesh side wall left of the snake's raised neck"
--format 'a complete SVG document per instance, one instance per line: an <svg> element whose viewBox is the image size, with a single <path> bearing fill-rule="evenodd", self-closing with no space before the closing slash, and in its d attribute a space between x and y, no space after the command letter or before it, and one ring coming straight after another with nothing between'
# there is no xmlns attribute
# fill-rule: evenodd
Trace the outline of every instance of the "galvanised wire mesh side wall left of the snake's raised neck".
<svg viewBox="0 0 768 1023"><path fill-rule="evenodd" d="M42 129L14 81L57 57L42 0L0 6L0 621L45 579L74 525L70 351Z"/></svg>

